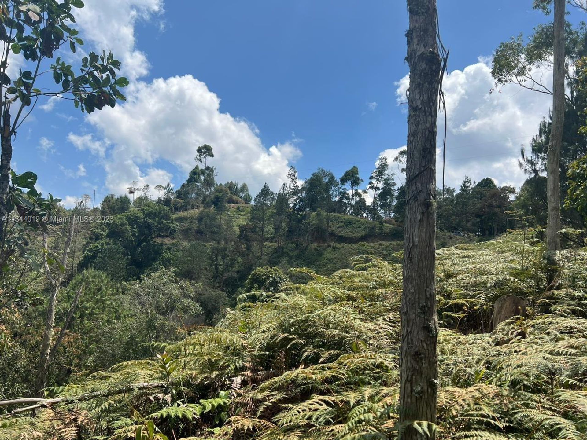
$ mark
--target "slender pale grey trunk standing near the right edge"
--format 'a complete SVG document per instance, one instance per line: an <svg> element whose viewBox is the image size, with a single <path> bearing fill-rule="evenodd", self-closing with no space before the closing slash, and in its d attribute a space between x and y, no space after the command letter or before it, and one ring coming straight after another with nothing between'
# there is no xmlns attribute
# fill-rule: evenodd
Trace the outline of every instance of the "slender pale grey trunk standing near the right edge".
<svg viewBox="0 0 587 440"><path fill-rule="evenodd" d="M561 249L561 145L565 123L565 0L554 1L554 71L552 77L552 128L548 144L548 251Z"/></svg>

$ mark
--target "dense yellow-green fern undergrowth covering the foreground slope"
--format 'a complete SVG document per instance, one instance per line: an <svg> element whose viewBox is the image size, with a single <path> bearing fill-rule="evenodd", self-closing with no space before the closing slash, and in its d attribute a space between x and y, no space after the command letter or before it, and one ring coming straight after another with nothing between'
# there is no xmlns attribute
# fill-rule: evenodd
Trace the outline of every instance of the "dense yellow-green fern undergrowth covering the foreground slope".
<svg viewBox="0 0 587 440"><path fill-rule="evenodd" d="M437 438L587 439L587 252L561 252L548 289L544 251L532 231L438 251ZM401 266L295 272L156 357L48 390L66 399L35 417L0 415L0 439L397 438ZM529 316L490 333L506 294Z"/></svg>

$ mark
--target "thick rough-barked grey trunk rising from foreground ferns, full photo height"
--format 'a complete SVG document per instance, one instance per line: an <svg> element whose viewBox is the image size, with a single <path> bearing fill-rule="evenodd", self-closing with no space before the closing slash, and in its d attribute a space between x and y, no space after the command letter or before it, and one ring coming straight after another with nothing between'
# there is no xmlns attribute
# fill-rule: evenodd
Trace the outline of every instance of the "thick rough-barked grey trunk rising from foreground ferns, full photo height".
<svg viewBox="0 0 587 440"><path fill-rule="evenodd" d="M436 0L407 0L407 6L410 89L399 412L402 439L420 440L429 437L420 434L413 427L414 422L436 423L438 318L434 263L436 120L441 65L436 40ZM434 432L430 434L434 438Z"/></svg>

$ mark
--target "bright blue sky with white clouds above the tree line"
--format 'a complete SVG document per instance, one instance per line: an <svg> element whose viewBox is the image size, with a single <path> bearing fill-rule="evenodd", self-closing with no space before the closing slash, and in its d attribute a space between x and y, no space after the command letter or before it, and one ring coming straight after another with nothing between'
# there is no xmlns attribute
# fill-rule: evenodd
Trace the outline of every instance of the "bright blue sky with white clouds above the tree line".
<svg viewBox="0 0 587 440"><path fill-rule="evenodd" d="M14 143L16 170L37 172L43 191L68 205L94 189L98 201L123 192L132 180L180 185L201 143L214 147L218 180L253 191L265 181L278 189L289 164L301 178L318 167L339 177L356 164L367 181L379 155L393 158L406 143L406 106L397 103L408 73L403 1L85 2L80 34L87 49L122 59L129 103L87 118L54 100ZM487 57L550 19L531 4L439 2L451 49L447 184L458 187L465 174L524 180L519 144L549 98L515 86L489 94Z"/></svg>

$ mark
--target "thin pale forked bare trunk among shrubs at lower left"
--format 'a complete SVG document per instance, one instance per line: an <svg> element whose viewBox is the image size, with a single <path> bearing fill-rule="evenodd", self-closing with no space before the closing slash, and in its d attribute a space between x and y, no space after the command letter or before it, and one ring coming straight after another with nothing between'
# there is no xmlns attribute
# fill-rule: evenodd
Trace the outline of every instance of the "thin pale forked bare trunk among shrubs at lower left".
<svg viewBox="0 0 587 440"><path fill-rule="evenodd" d="M41 341L41 359L39 360L39 368L35 381L35 395L41 397L43 388L47 384L47 376L49 373L49 365L51 363L51 343L53 340L53 327L55 326L55 310L57 308L57 299L61 283L67 273L69 247L72 242L73 231L75 229L75 216L72 216L72 224L69 226L68 238L63 246L63 255L61 258L61 265L63 272L57 277L51 275L49 265L45 257L45 273L49 279L51 295L49 296L49 303L47 304L47 313L45 318L45 330L43 330L43 339ZM43 237L45 252L48 252L47 235Z"/></svg>

